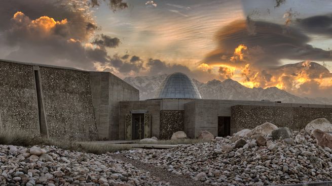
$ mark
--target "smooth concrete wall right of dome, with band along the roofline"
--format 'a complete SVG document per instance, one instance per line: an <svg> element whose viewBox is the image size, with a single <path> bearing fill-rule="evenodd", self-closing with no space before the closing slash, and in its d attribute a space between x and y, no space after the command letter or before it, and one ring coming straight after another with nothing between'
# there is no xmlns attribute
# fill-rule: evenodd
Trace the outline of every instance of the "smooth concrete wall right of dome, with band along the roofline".
<svg viewBox="0 0 332 186"><path fill-rule="evenodd" d="M266 101L194 100L185 104L185 132L189 137L197 137L200 130L208 130L216 136L218 132L218 116L231 116L231 107L235 105L299 108L331 107L330 105L290 104Z"/></svg>

